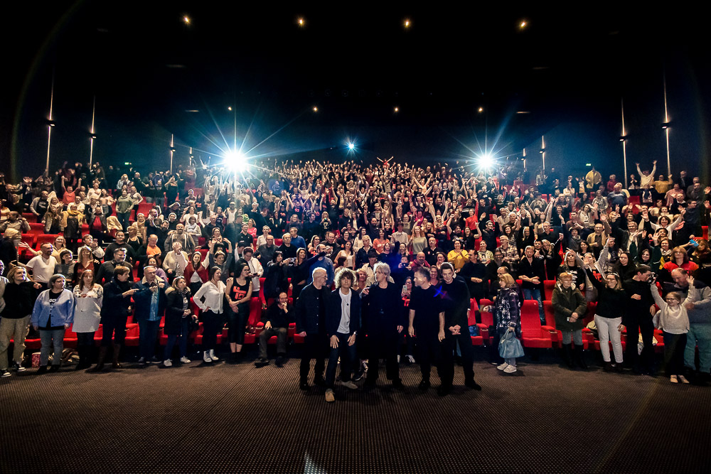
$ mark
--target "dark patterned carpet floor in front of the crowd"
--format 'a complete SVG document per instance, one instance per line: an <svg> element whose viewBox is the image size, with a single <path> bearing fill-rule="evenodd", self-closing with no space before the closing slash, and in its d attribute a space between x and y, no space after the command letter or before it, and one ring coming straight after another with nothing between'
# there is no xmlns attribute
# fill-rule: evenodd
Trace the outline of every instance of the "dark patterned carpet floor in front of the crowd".
<svg viewBox="0 0 711 474"><path fill-rule="evenodd" d="M0 379L2 473L709 472L711 387L477 362L474 392L297 387L279 369L192 362ZM436 374L436 372L434 372Z"/></svg>

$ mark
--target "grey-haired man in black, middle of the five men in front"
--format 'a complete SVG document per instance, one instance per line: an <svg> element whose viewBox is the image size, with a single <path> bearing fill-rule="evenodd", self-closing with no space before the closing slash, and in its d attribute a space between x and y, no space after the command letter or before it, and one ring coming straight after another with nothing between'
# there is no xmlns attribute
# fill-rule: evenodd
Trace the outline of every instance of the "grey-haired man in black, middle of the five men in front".
<svg viewBox="0 0 711 474"><path fill-rule="evenodd" d="M428 273L429 274L429 273ZM397 365L397 344L405 325L400 308L400 289L388 281L390 266L375 264L375 284L363 289L363 326L368 333L368 376L365 387L375 387L378 380L378 360L385 359L387 379L392 387L402 389L400 368Z"/></svg>

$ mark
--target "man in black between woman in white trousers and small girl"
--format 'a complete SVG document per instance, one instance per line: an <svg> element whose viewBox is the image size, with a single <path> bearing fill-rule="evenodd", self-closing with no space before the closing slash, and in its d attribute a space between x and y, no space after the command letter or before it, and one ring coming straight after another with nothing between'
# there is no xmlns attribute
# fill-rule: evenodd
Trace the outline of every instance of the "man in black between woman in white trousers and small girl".
<svg viewBox="0 0 711 474"><path fill-rule="evenodd" d="M627 367L636 373L650 374L653 372L654 348L652 337L654 324L652 317L656 313L654 299L649 286L649 277L652 271L646 265L637 266L636 274L624 281L624 290L629 297L625 316L622 324L627 328L627 345L624 356ZM656 289L654 289L656 291ZM637 341L642 335L644 348L640 357L637 355Z"/></svg>

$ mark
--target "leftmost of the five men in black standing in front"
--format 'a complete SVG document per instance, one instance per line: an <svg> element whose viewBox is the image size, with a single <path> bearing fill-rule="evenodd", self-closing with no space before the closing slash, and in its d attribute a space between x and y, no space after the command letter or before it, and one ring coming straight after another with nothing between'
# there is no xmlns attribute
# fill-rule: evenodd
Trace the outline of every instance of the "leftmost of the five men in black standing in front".
<svg viewBox="0 0 711 474"><path fill-rule="evenodd" d="M321 267L311 274L313 281L304 286L296 300L296 333L304 338L301 348L301 366L299 367L299 388L309 388L309 366L311 359L316 359L314 384L325 385L324 357L328 348L326 335L326 270Z"/></svg>

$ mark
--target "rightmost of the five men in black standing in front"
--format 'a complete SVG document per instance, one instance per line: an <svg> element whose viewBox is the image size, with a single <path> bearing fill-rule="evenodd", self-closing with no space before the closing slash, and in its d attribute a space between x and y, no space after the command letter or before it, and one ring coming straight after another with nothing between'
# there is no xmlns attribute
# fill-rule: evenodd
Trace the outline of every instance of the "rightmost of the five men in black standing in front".
<svg viewBox="0 0 711 474"><path fill-rule="evenodd" d="M442 301L444 302L444 343L442 343L442 394L451 390L454 380L454 350L459 343L464 385L481 390L474 382L474 348L469 335L469 289L461 277L454 277L454 266L442 264Z"/></svg>

